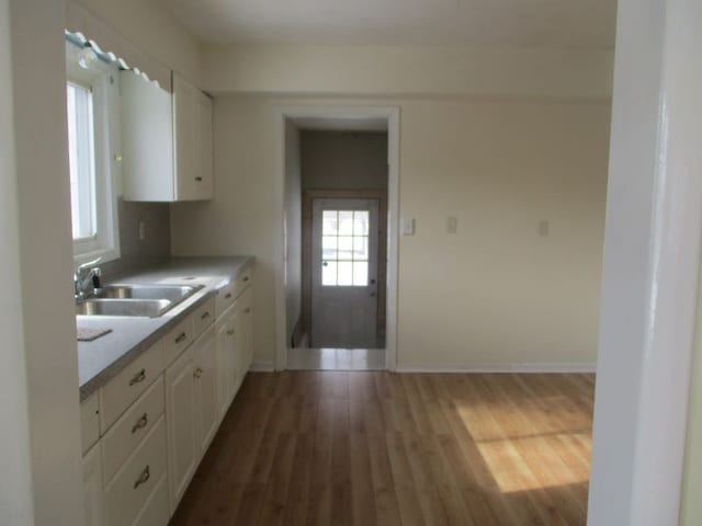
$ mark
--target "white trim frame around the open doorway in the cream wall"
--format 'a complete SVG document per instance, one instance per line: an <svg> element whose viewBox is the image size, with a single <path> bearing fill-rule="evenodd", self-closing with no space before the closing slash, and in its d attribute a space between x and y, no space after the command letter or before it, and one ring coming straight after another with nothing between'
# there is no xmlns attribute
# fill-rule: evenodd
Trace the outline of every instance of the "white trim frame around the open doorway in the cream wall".
<svg viewBox="0 0 702 526"><path fill-rule="evenodd" d="M273 237L275 274L275 370L287 367L285 308L285 124L296 119L385 119L387 122L387 272L385 294L385 364L397 368L397 263L399 247L399 107L363 105L281 105L274 108L278 147L275 155Z"/></svg>

